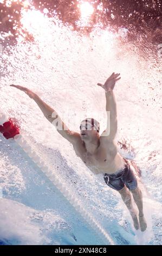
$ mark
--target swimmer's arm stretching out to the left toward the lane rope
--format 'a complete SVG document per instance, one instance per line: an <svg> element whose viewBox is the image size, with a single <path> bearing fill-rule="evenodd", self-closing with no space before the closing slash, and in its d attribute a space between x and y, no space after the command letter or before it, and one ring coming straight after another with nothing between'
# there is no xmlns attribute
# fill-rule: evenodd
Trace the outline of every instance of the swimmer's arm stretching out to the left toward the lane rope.
<svg viewBox="0 0 162 256"><path fill-rule="evenodd" d="M60 135L62 135L62 137L66 138L71 143L75 143L77 141L79 133L70 131L67 125L64 124L59 117L59 114L57 114L57 112L53 108L51 108L43 100L41 100L41 98L36 93L22 86L15 86L14 84L11 84L10 86L22 90L31 99L33 99L37 103L38 107L40 107L41 111L44 114L44 117L46 117L47 120L50 121L50 123L55 125L56 130L60 133Z"/></svg>

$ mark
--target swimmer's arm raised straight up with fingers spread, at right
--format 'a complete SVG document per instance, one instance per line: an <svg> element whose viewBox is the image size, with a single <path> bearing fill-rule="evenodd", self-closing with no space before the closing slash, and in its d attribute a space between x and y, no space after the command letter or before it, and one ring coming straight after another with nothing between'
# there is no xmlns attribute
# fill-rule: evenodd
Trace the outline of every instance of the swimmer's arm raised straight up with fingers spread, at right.
<svg viewBox="0 0 162 256"><path fill-rule="evenodd" d="M98 83L98 86L101 86L103 89L105 89L107 112L107 128L105 131L103 131L101 136L103 136L103 138L106 137L110 140L113 140L115 138L118 129L116 101L113 89L116 81L120 79L119 75L120 74L113 73L110 77L107 78L105 84Z"/></svg>

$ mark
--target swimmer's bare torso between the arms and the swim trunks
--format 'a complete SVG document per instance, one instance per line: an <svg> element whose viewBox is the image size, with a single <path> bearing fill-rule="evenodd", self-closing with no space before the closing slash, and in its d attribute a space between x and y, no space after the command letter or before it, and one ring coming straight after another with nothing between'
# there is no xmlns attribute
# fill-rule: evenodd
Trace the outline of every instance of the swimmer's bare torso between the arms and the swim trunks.
<svg viewBox="0 0 162 256"><path fill-rule="evenodd" d="M75 153L81 158L86 166L95 174L115 173L124 168L125 161L118 153L117 146L113 141L106 141L100 137L100 145L95 154L87 153L81 138L73 145Z"/></svg>

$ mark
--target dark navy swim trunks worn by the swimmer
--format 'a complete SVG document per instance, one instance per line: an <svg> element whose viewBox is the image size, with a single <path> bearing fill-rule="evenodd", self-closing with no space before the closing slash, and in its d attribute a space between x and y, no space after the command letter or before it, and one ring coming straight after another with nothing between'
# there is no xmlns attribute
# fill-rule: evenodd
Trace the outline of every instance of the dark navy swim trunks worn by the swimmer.
<svg viewBox="0 0 162 256"><path fill-rule="evenodd" d="M116 174L103 174L103 179L106 184L114 190L121 190L126 185L129 190L137 188L137 178L134 174L134 167L129 164L127 159L124 159L126 164L124 169Z"/></svg>

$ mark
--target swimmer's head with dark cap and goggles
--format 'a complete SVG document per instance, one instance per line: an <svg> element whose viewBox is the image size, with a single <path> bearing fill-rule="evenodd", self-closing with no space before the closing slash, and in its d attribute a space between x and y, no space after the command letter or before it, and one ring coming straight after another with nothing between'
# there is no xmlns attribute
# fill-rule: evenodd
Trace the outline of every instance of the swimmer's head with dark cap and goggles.
<svg viewBox="0 0 162 256"><path fill-rule="evenodd" d="M92 124L82 122L80 125L80 136L82 141L87 141L99 136L99 133Z"/></svg>

